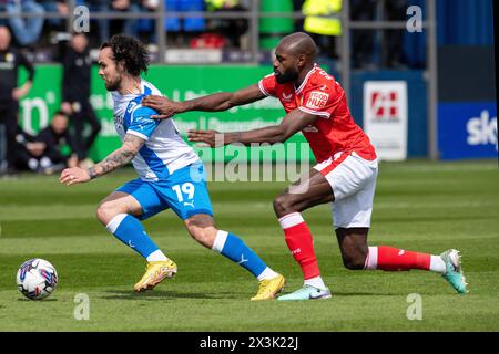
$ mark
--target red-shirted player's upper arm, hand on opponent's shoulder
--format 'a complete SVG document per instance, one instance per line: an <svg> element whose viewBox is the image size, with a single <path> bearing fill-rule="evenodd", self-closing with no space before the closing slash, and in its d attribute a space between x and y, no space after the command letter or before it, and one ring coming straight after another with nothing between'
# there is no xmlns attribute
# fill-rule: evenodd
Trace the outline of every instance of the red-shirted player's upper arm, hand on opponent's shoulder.
<svg viewBox="0 0 499 354"><path fill-rule="evenodd" d="M152 118L169 118L174 114L202 111L202 112L218 112L226 111L234 106L245 105L257 100L263 100L266 96L262 93L257 85L252 85L236 92L221 92L212 95L189 100L184 102L176 102L163 96L146 96L142 100L142 105L151 107L160 113L153 115Z"/></svg>

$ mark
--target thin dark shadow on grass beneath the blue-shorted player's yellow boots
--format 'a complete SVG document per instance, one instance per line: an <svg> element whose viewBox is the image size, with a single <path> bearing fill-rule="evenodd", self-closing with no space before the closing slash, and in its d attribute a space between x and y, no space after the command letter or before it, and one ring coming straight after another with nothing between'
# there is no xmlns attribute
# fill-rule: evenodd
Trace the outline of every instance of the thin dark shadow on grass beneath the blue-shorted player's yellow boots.
<svg viewBox="0 0 499 354"><path fill-rule="evenodd" d="M101 299L106 300L177 300L177 299L237 299L234 293L198 293L198 292L180 292L180 291L164 291L154 290L149 292L134 292L124 290L106 291L109 295L103 295Z"/></svg>

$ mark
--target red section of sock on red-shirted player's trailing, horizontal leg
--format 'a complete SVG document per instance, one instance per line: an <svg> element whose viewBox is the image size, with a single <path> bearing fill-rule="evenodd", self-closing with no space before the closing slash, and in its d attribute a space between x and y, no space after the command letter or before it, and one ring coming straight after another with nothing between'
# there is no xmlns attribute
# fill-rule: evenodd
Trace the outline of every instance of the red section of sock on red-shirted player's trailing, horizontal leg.
<svg viewBox="0 0 499 354"><path fill-rule="evenodd" d="M422 269L429 270L431 254L399 250L394 247L378 246L377 269L386 271Z"/></svg>

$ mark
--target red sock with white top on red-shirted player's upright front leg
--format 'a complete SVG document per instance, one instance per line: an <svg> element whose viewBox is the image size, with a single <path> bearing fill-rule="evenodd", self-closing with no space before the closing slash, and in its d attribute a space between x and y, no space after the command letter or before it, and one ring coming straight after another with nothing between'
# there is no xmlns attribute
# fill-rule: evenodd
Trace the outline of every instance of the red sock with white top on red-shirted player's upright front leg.
<svg viewBox="0 0 499 354"><path fill-rule="evenodd" d="M308 226L299 212L288 214L279 219L287 247L298 262L305 280L320 274L314 252L314 241Z"/></svg>

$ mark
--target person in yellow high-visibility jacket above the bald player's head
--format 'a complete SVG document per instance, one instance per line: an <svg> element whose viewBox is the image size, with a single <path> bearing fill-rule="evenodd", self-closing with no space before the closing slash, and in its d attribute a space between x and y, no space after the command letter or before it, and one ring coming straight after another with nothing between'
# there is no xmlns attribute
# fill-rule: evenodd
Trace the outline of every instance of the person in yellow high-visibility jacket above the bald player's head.
<svg viewBox="0 0 499 354"><path fill-rule="evenodd" d="M339 18L324 18L320 15L335 15L342 12L343 0L306 0L302 12L306 15L303 28L318 44L320 52L336 59L336 38L342 35L342 21Z"/></svg>

